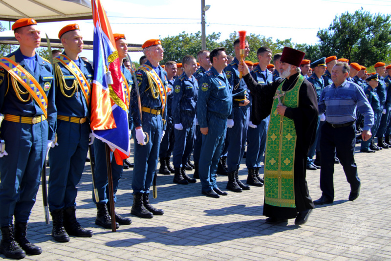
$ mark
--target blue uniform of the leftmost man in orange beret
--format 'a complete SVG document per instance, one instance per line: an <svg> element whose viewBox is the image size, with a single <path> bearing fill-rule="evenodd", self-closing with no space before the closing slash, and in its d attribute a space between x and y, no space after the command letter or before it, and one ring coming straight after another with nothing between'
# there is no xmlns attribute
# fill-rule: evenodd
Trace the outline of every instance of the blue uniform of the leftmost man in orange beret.
<svg viewBox="0 0 391 261"><path fill-rule="evenodd" d="M31 68L20 49L7 57L24 67L43 87L47 96L47 119L25 88L21 84L13 87L11 76L0 67L0 112L4 114L0 138L5 141L8 153L0 158L1 227L11 225L13 216L17 222L28 221L40 185L47 141L54 140L57 116L50 63L36 53L32 59L35 68ZM7 115L28 117L30 123L7 120Z"/></svg>

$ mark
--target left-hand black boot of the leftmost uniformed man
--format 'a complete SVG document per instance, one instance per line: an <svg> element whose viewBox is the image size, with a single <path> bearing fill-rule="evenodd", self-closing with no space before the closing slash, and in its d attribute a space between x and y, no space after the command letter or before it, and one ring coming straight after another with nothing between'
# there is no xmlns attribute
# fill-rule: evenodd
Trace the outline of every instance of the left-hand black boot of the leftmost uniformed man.
<svg viewBox="0 0 391 261"><path fill-rule="evenodd" d="M12 225L0 227L1 229L1 242L0 253L7 258L22 259L26 257L26 252L19 246L18 242L14 238L14 229Z"/></svg>

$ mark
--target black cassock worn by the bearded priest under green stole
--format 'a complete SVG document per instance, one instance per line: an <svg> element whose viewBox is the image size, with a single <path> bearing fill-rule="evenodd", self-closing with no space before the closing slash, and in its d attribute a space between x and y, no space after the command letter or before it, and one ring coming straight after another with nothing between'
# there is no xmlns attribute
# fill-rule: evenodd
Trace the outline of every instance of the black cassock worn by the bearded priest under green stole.
<svg viewBox="0 0 391 261"><path fill-rule="evenodd" d="M294 87L298 76L299 73L286 79L282 91L288 91ZM253 124L259 125L262 119L270 115L273 97L283 80L279 79L271 84L261 85L251 77L250 73L243 76L243 79L253 98L252 118L250 120ZM294 121L297 135L294 166L296 208L276 207L263 203L263 216L296 218L298 212L314 208L305 180L305 171L308 150L315 140L318 123L318 101L315 88L306 79L304 79L299 90L299 106L297 108L286 108L284 117Z"/></svg>

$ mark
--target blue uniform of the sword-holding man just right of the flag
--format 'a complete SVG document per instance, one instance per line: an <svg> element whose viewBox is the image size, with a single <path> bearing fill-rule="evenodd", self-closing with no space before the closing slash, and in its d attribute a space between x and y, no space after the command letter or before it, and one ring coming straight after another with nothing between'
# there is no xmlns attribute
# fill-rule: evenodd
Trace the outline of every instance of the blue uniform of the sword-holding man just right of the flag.
<svg viewBox="0 0 391 261"><path fill-rule="evenodd" d="M147 61L145 65L152 67L160 80L163 83L163 87L167 90L167 72L158 65L153 67L150 61ZM146 145L140 145L137 143L135 133L134 137L134 167L131 187L133 195L142 193L149 194L150 187L152 185L153 175L156 173L157 159L160 148L160 141L162 131L165 130L165 122L167 119L167 109L162 109L165 104L162 104L158 93L157 98L154 98L152 87L149 84L147 73L142 69L136 71L137 85L140 91L141 106L142 106L142 122L140 119L140 112L137 105L137 94L133 87L130 95L130 111L133 117L134 127L142 126L143 131L148 133L149 142ZM158 87L157 87L158 88ZM158 89L158 91L160 91ZM165 103L166 101L164 101Z"/></svg>

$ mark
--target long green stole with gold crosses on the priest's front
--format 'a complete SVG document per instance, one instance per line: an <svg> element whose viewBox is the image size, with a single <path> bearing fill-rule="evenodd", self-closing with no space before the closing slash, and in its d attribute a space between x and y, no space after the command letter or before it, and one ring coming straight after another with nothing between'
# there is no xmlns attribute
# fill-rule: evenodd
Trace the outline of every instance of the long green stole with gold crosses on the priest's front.
<svg viewBox="0 0 391 261"><path fill-rule="evenodd" d="M299 90L304 76L299 74L295 86L286 91L282 104L289 108L299 106ZM282 81L276 90L282 93ZM294 166L296 129L292 119L277 113L278 99L273 101L267 131L265 152L265 203L277 207L295 208Z"/></svg>

